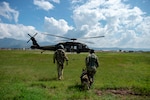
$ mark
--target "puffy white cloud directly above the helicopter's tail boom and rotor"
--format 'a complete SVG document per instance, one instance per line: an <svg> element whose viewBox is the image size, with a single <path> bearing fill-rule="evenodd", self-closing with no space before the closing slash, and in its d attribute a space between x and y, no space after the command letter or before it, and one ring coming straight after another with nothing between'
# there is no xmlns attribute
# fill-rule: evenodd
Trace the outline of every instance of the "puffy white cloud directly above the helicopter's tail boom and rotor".
<svg viewBox="0 0 150 100"><path fill-rule="evenodd" d="M56 20L53 17L45 17L44 20L45 31L51 34L64 35L73 29L64 19Z"/></svg>

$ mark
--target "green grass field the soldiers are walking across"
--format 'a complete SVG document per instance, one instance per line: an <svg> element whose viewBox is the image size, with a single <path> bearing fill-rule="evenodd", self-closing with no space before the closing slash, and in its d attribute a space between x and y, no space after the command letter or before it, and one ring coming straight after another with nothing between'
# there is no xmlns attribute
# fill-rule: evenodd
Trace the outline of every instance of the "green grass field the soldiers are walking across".
<svg viewBox="0 0 150 100"><path fill-rule="evenodd" d="M1 100L149 100L150 52L97 52L95 83L80 90L87 53L67 54L64 80L57 80L53 52L0 50Z"/></svg>

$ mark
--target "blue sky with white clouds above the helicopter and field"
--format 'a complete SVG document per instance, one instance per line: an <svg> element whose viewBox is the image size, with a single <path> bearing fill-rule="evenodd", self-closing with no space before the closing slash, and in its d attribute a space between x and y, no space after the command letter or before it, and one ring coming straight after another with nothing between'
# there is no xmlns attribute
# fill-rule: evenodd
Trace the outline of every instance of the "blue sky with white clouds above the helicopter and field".
<svg viewBox="0 0 150 100"><path fill-rule="evenodd" d="M69 38L89 47L150 49L150 0L0 0L0 39L56 43ZM89 42L92 43L89 43Z"/></svg>

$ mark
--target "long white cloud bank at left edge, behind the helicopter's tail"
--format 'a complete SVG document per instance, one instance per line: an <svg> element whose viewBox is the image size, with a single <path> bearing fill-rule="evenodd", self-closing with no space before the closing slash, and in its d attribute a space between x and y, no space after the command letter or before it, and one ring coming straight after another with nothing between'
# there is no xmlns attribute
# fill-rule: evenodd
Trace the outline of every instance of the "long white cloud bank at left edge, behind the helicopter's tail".
<svg viewBox="0 0 150 100"><path fill-rule="evenodd" d="M33 26L24 26L22 24L4 24L0 23L0 38L14 38L17 40L28 40L28 33L33 35L38 32Z"/></svg>

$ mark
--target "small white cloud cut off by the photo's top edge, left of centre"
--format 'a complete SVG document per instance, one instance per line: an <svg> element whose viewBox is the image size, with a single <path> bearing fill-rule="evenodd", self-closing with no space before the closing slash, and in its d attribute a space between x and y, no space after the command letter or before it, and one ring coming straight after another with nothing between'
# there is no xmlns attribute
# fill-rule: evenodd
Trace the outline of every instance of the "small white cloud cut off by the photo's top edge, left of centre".
<svg viewBox="0 0 150 100"><path fill-rule="evenodd" d="M34 5L46 11L54 8L48 0L34 0Z"/></svg>

